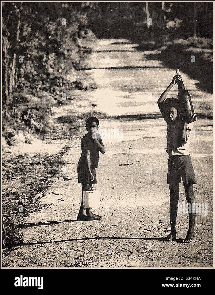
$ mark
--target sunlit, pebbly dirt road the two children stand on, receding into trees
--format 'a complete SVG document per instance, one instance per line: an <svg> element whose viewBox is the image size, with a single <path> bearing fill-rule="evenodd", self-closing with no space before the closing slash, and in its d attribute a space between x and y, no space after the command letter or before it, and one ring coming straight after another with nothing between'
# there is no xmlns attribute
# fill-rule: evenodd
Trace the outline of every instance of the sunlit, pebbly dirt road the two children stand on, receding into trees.
<svg viewBox="0 0 215 295"><path fill-rule="evenodd" d="M183 75L199 115L194 123L191 159L198 181L194 186L196 201L202 210L197 214L195 242L163 242L161 238L169 232L168 156L166 123L159 116L156 101L175 72L147 60L147 53L136 51L127 40L98 40L93 49L88 71L98 88L89 92L89 98L95 110L110 116L100 121L107 152L100 155L97 168L102 199L100 209L94 212L101 214L102 220L76 221L81 200L77 143L63 156L59 174L64 175L53 180L41 199L49 208L26 218L24 245L4 258L5 265L212 267L213 121L208 117L213 112L212 95L197 89L197 81ZM177 86L171 92L176 94ZM113 132L112 138L105 138L105 132ZM180 193L183 205L182 185ZM178 214L177 238L184 238L187 229L188 214Z"/></svg>

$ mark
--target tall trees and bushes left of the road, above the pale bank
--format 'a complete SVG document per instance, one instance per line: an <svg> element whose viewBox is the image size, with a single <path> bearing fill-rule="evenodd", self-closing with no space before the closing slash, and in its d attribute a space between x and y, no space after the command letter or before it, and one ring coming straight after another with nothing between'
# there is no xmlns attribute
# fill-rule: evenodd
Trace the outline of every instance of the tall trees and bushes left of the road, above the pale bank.
<svg viewBox="0 0 215 295"><path fill-rule="evenodd" d="M72 91L87 90L83 66L89 48L89 3L3 3L3 138L48 134L51 109L74 99ZM4 146L3 144L3 146Z"/></svg>

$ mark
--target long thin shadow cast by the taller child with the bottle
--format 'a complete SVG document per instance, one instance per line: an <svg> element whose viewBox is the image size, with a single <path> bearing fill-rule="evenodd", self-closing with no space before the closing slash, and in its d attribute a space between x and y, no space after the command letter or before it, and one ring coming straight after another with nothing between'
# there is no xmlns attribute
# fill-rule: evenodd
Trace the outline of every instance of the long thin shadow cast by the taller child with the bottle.
<svg viewBox="0 0 215 295"><path fill-rule="evenodd" d="M32 246L32 245L42 245L42 244L53 244L53 243L62 243L62 242L72 242L72 241L88 241L88 240L158 240L163 241L162 238L140 238L140 237L92 237L92 238L77 238L77 239L67 239L67 240L58 240L58 241L47 241L47 242L32 242L32 243L22 243L23 246Z"/></svg>

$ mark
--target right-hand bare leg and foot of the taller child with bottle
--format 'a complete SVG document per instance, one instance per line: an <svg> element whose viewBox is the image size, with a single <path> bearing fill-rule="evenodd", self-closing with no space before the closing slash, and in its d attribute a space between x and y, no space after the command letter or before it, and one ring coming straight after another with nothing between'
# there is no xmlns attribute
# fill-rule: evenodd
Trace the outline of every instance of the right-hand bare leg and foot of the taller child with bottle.
<svg viewBox="0 0 215 295"><path fill-rule="evenodd" d="M188 206L190 210L188 212L189 228L188 228L187 236L183 240L183 242L191 242L192 240L195 240L194 226L195 226L195 219L196 219L196 206L195 206L196 200L195 200L195 195L193 191L193 185L189 186L184 184L184 189L185 189L186 200L188 204L190 204Z"/></svg>

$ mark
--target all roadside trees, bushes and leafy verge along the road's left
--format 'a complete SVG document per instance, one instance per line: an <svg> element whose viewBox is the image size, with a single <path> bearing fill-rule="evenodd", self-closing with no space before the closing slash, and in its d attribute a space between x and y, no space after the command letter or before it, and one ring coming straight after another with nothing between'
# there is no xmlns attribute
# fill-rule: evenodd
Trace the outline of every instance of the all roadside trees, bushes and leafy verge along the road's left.
<svg viewBox="0 0 215 295"><path fill-rule="evenodd" d="M3 248L22 243L16 225L41 208L40 198L59 172L60 152L14 154L11 148L34 145L34 140L77 137L81 124L70 117L70 126L52 119L53 107L71 104L77 91L95 86L79 71L90 49L82 40L94 41L87 29L94 12L90 3L2 4L3 87L2 87L2 205ZM76 129L77 128L77 129Z"/></svg>

